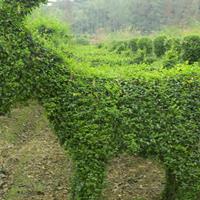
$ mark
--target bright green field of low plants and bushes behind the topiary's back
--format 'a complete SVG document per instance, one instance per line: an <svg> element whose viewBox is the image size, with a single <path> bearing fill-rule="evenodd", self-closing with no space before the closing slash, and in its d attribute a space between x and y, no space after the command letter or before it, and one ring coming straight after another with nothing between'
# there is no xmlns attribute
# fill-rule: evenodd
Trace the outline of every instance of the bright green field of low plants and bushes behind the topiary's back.
<svg viewBox="0 0 200 200"><path fill-rule="evenodd" d="M144 40L141 48L136 42L138 40ZM199 73L200 37L185 37L184 50L181 50L181 40L183 39L158 36L155 39L140 38L99 45L75 45L68 49L67 53L64 51L64 56L67 56L68 62L71 61L69 67L73 72L87 77L159 79L178 74ZM188 41L191 41L191 44L188 44ZM158 44L155 44L156 42ZM161 50L156 51L156 48ZM191 58L191 63L188 57Z"/></svg>

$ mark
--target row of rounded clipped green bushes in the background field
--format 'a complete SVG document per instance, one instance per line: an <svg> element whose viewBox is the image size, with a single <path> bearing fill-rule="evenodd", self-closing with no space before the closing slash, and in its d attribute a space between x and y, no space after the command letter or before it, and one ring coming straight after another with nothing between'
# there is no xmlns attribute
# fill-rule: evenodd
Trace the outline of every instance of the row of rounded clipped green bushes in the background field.
<svg viewBox="0 0 200 200"><path fill-rule="evenodd" d="M159 36L154 40L148 37L135 38L125 42L114 42L111 44L110 50L117 53L131 51L138 55L139 61L144 61L141 54L152 58L153 56L161 58L167 52L172 51L179 57L180 61L188 61L189 64L193 64L200 61L200 36L190 35L183 39Z"/></svg>

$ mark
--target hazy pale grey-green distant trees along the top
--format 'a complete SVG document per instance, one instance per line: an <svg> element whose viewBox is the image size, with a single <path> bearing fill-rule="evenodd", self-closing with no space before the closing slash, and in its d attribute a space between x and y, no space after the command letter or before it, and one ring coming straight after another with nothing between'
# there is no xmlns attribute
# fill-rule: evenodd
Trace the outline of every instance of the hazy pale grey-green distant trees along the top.
<svg viewBox="0 0 200 200"><path fill-rule="evenodd" d="M47 11L58 11L77 34L98 31L158 31L200 22L200 0L58 0Z"/></svg>

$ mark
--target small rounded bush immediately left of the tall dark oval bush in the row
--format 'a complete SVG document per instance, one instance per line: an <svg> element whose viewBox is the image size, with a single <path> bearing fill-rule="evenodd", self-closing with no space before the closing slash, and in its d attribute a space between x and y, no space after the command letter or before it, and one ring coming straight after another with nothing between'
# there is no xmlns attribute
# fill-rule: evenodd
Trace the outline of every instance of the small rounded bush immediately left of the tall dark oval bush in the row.
<svg viewBox="0 0 200 200"><path fill-rule="evenodd" d="M140 38L138 40L138 48L145 51L147 55L152 54L153 53L152 40L146 37Z"/></svg>

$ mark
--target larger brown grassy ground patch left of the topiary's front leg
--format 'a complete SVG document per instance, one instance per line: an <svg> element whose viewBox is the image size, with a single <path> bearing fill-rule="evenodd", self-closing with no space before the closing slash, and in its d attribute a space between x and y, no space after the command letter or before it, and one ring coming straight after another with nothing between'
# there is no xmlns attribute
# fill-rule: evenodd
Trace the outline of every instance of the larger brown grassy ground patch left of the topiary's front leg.
<svg viewBox="0 0 200 200"><path fill-rule="evenodd" d="M66 199L71 162L41 108L31 105L1 118L2 200Z"/></svg>

